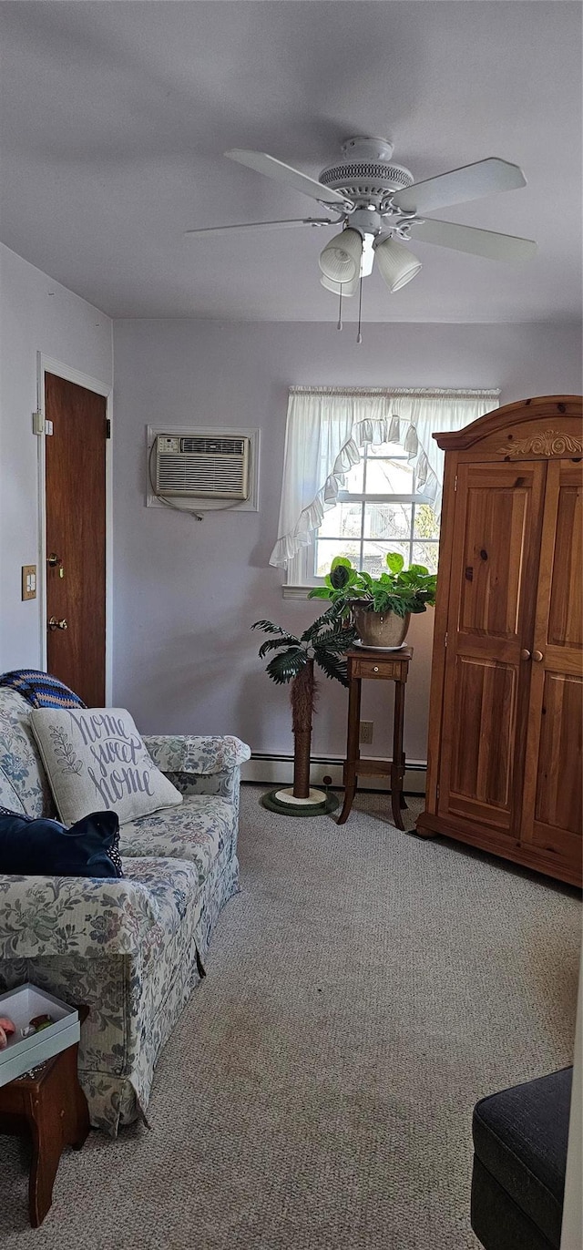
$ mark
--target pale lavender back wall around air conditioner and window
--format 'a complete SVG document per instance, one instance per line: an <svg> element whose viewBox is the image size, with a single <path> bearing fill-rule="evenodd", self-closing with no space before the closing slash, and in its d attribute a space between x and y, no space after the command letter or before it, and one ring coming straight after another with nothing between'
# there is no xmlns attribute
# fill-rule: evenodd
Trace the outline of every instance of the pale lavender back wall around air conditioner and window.
<svg viewBox="0 0 583 1250"><path fill-rule="evenodd" d="M288 691L264 672L259 618L293 630L315 605L281 599L268 565L276 536L288 386L500 386L502 402L580 389L580 331L549 325L221 324L116 321L114 702L159 732L238 732L254 750L292 750ZM146 509L145 426L261 426L260 511L199 524ZM433 612L413 620L405 749L425 759ZM383 755L392 691L365 682L372 754ZM347 695L323 679L313 754L344 755Z"/></svg>

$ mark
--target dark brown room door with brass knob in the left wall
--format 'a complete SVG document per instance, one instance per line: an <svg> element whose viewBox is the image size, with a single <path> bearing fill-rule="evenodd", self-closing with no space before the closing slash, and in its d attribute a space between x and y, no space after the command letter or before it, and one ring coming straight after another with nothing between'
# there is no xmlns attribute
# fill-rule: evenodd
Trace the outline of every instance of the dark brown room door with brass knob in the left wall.
<svg viewBox="0 0 583 1250"><path fill-rule="evenodd" d="M45 375L48 671L105 704L105 399ZM51 562L56 558L58 562Z"/></svg>

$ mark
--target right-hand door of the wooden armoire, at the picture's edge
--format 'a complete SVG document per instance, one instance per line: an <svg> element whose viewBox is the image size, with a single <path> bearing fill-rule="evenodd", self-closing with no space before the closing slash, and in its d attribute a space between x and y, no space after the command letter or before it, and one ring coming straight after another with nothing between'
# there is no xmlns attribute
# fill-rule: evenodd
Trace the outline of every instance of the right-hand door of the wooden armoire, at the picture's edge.
<svg viewBox="0 0 583 1250"><path fill-rule="evenodd" d="M533 639L523 842L580 870L583 474L552 461L544 496Z"/></svg>

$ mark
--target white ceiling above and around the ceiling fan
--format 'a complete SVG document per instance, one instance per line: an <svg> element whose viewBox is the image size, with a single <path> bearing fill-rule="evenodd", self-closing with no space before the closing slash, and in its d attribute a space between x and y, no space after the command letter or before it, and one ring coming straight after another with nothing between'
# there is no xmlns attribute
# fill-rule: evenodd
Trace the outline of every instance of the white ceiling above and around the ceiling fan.
<svg viewBox="0 0 583 1250"><path fill-rule="evenodd" d="M333 320L332 231L183 231L320 215L229 148L318 176L343 139L385 135L415 181L519 164L527 188L438 216L539 251L415 241L413 282L364 281L367 321L579 319L580 22L570 0L3 0L0 236L111 316Z"/></svg>

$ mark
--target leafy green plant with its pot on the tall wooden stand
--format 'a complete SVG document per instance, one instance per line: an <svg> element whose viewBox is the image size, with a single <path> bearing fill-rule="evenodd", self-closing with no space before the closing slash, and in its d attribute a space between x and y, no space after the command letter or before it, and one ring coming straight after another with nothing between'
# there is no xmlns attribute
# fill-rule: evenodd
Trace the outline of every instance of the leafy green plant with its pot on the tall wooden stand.
<svg viewBox="0 0 583 1250"><path fill-rule="evenodd" d="M403 646L412 614L435 602L437 575L423 564L405 569L404 562L399 551L388 551L387 571L373 578L339 555L324 585L310 590L308 598L329 599L344 620L354 622L362 646L397 650Z"/></svg>

